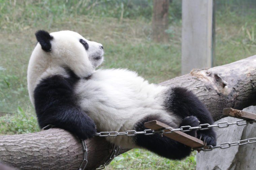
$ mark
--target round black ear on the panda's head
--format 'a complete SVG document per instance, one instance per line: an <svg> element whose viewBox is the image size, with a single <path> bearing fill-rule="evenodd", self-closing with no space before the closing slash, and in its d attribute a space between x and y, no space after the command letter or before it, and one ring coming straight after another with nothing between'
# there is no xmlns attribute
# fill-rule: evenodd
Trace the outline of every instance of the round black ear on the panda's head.
<svg viewBox="0 0 256 170"><path fill-rule="evenodd" d="M38 30L36 33L36 39L40 43L42 49L46 52L51 51L53 36L51 36L47 31Z"/></svg>

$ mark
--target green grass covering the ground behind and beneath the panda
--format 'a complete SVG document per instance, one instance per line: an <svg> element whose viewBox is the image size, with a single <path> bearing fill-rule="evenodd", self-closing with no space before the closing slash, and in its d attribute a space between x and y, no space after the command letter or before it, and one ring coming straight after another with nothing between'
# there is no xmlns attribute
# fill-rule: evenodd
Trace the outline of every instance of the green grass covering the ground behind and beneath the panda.
<svg viewBox="0 0 256 170"><path fill-rule="evenodd" d="M95 5L96 2L102 3ZM76 0L66 3L0 0L0 115L3 115L0 134L39 131L26 80L28 60L36 44L34 32L39 29L73 30L102 43L105 50L102 68L129 68L152 83L179 76L181 3L173 2L168 29L170 41L161 44L151 40L150 0L142 0L141 4L125 0L82 0L80 4ZM241 14L229 8L230 4L224 7L216 11L215 66L256 54L255 12L247 10ZM195 153L183 161L170 161L134 149L115 158L107 169L189 170L195 169L195 165Z"/></svg>

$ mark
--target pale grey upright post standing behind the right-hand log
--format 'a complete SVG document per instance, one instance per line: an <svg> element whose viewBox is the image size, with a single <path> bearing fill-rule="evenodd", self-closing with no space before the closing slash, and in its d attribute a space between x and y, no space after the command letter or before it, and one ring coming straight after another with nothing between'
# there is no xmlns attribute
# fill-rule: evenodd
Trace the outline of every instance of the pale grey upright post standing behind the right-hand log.
<svg viewBox="0 0 256 170"><path fill-rule="evenodd" d="M213 67L214 0L182 1L182 75Z"/></svg>

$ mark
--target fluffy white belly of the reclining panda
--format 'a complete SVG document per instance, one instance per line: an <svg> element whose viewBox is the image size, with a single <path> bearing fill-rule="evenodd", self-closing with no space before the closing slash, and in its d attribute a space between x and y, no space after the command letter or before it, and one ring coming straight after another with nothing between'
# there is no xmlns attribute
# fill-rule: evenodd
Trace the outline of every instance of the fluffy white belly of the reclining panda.
<svg viewBox="0 0 256 170"><path fill-rule="evenodd" d="M120 72L123 74L120 74ZM149 84L127 70L98 70L75 88L81 109L96 123L97 131L134 130L147 117L161 117L177 127L179 119L163 107L167 87ZM107 137L108 141L133 148L132 137Z"/></svg>

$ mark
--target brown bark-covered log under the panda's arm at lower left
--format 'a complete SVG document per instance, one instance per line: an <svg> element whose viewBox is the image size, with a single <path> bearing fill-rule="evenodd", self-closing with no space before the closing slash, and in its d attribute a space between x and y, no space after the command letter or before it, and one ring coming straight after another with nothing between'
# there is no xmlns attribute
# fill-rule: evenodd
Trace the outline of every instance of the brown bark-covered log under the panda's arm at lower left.
<svg viewBox="0 0 256 170"><path fill-rule="evenodd" d="M86 140L88 164L96 169L111 155L113 145L103 137ZM128 151L121 149L119 154ZM78 169L84 156L81 141L58 128L37 133L0 136L0 162L19 169Z"/></svg>

